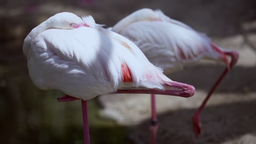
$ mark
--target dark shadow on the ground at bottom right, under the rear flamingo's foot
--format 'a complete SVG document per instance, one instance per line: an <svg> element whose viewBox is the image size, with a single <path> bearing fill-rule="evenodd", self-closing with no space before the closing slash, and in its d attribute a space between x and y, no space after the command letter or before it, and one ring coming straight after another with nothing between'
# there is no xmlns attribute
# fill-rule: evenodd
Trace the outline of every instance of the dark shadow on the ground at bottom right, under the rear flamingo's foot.
<svg viewBox="0 0 256 144"><path fill-rule="evenodd" d="M195 110L181 109L159 114L158 144L174 141L175 144L220 144L244 134L256 133L256 101L206 107L201 116L203 135L199 139L195 138L192 130L191 117ZM134 127L131 138L147 144L148 130L149 120L145 120Z"/></svg>

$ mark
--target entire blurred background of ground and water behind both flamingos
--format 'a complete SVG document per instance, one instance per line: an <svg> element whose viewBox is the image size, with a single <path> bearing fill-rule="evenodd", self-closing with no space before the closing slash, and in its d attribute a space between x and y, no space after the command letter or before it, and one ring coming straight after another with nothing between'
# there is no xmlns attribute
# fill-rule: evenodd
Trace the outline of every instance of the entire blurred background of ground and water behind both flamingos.
<svg viewBox="0 0 256 144"><path fill-rule="evenodd" d="M159 144L256 144L255 0L1 0L0 141L2 144L83 144L80 101L58 103L59 91L33 85L22 53L27 34L63 11L92 15L113 26L140 8L167 16L206 33L223 48L240 53L238 64L217 88L201 117L196 139L191 117L224 65L202 61L168 75L194 85L195 96L157 96ZM149 95L105 95L90 100L92 144L149 143Z"/></svg>

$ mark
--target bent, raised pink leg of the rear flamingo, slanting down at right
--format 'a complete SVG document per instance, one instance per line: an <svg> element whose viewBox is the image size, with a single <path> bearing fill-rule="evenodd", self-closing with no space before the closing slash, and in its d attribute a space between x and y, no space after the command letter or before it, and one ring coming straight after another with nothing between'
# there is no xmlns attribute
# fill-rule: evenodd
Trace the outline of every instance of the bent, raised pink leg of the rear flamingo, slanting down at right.
<svg viewBox="0 0 256 144"><path fill-rule="evenodd" d="M237 63L237 60L239 58L239 54L236 51L224 51L224 53L226 55L231 56L231 62L229 64L230 69L232 67L235 66L235 64ZM202 128L201 128L201 122L200 122L200 114L203 110L203 108L205 107L205 104L207 103L207 101L210 99L211 94L213 93L213 91L215 91L215 89L217 88L217 86L219 85L219 83L221 83L221 80L225 77L225 75L229 72L229 67L227 67L224 72L221 74L221 76L219 77L219 79L216 81L216 83L213 85L213 87L211 88L211 91L208 93L208 95L206 96L206 98L203 100L203 103L201 104L201 106L197 109L197 111L195 112L195 114L192 117L192 122L193 122L193 128L194 128L194 132L195 132L195 136L198 138L198 136L202 133Z"/></svg>

